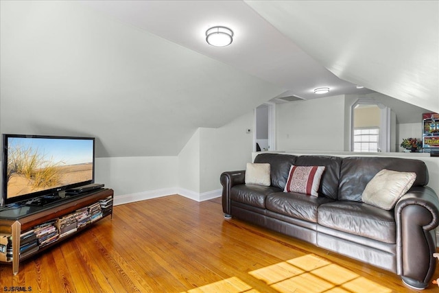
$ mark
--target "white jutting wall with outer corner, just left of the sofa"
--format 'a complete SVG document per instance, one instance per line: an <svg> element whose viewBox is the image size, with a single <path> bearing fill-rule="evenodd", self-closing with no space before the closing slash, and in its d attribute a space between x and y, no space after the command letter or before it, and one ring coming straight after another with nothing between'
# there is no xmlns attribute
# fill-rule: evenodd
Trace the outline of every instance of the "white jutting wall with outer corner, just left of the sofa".
<svg viewBox="0 0 439 293"><path fill-rule="evenodd" d="M253 111L220 128L199 128L178 154L178 194L206 200L221 194L219 176L251 161Z"/></svg>

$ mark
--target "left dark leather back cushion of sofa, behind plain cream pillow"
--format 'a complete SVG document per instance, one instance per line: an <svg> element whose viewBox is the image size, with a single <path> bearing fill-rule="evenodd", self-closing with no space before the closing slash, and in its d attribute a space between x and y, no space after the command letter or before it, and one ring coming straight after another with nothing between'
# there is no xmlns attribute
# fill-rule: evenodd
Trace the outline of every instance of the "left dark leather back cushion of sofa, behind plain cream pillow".
<svg viewBox="0 0 439 293"><path fill-rule="evenodd" d="M280 189L285 188L289 168L294 165L297 156L292 154L258 154L254 163L269 163L272 186Z"/></svg>

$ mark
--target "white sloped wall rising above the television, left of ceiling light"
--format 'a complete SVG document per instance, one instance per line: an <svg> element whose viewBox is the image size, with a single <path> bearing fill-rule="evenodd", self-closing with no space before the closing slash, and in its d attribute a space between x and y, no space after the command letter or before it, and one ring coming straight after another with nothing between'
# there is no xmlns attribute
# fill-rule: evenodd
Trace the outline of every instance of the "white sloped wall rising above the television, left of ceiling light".
<svg viewBox="0 0 439 293"><path fill-rule="evenodd" d="M0 1L0 30L1 133L96 137L98 157L177 156L285 91L82 1Z"/></svg>

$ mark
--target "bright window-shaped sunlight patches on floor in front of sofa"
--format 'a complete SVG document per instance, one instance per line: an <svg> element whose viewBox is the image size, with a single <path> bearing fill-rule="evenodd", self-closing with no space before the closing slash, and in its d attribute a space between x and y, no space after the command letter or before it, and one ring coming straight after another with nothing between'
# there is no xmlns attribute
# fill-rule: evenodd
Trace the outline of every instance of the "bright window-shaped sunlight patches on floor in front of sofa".
<svg viewBox="0 0 439 293"><path fill-rule="evenodd" d="M390 293L392 290L331 263L317 255L304 255L248 272L280 293ZM237 277L201 286L186 293L259 293Z"/></svg>

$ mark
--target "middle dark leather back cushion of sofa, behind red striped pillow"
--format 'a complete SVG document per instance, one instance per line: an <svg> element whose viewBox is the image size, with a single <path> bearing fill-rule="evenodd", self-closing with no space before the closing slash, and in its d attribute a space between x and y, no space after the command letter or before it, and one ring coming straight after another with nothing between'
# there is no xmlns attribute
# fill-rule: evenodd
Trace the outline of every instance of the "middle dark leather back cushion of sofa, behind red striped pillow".
<svg viewBox="0 0 439 293"><path fill-rule="evenodd" d="M318 196L337 199L342 158L337 156L298 156L296 166L324 166Z"/></svg>

